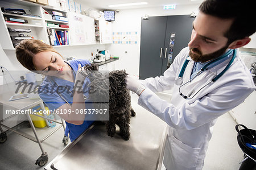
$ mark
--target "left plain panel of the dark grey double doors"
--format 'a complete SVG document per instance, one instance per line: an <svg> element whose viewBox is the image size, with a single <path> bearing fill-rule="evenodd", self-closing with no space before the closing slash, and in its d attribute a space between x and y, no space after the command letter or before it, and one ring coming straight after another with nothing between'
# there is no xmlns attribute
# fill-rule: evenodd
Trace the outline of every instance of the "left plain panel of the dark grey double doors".
<svg viewBox="0 0 256 170"><path fill-rule="evenodd" d="M160 76L164 53L167 16L153 16L141 21L139 78Z"/></svg>

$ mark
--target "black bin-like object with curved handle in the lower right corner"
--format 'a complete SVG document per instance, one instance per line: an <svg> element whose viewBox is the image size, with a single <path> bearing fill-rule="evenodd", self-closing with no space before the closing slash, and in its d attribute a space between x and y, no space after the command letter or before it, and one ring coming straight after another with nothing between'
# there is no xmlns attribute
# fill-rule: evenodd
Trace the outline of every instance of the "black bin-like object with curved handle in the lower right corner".
<svg viewBox="0 0 256 170"><path fill-rule="evenodd" d="M242 126L243 129L239 130L238 127ZM242 164L239 170L256 169L256 149L253 145L256 144L256 131L249 129L244 125L236 125L237 142L244 153Z"/></svg>

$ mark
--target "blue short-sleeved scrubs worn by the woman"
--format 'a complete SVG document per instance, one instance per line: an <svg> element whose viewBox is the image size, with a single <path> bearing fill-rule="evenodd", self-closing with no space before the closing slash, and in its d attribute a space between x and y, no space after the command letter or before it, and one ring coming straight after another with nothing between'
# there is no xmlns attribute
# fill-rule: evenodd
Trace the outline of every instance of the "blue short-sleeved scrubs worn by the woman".
<svg viewBox="0 0 256 170"><path fill-rule="evenodd" d="M73 71L76 73L78 69L78 65L81 64L83 67L85 64L89 64L88 60L69 60L69 64L71 65ZM52 80L54 80L57 85L59 85L59 92L65 98L65 100L69 103L73 102L73 97L71 97L71 92L73 90L74 83L71 81L63 80L61 78L57 77L51 77ZM86 82L85 82L86 83ZM39 96L40 98L46 103L49 110L56 110L60 106L64 105L66 102L63 98L60 97L60 95L56 92L58 86L55 85L53 81L50 80L49 77L44 78L44 81L41 84L40 90L39 90ZM61 89L61 86L68 87L69 89ZM70 91L71 92L70 92ZM85 96L88 96L88 93L84 93ZM91 103L85 103L86 109L92 109ZM82 132L84 132L93 121L84 121L82 125L73 125L72 123L66 122L66 129L65 129L65 135L68 136L71 142L75 140Z"/></svg>

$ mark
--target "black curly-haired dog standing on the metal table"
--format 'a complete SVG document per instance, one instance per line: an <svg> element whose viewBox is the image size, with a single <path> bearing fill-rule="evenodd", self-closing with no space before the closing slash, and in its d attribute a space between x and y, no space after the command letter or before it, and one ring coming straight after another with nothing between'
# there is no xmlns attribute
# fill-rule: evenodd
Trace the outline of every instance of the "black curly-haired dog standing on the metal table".
<svg viewBox="0 0 256 170"><path fill-rule="evenodd" d="M83 72L98 71L97 64L87 64L82 68ZM125 70L112 72L86 72L86 77L90 80L89 99L93 102L94 109L106 108L109 104L109 121L102 121L106 124L109 136L115 134L115 124L119 126L120 135L123 139L130 138L130 118L135 116L135 111L131 108L131 96L126 89ZM98 101L107 101L106 105Z"/></svg>

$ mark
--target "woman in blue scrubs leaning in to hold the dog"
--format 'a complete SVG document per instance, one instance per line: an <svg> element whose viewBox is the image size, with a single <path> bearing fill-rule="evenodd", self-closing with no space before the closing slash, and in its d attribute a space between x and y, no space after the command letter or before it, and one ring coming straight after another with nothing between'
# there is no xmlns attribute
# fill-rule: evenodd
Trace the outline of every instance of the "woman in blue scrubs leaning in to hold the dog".
<svg viewBox="0 0 256 170"><path fill-rule="evenodd" d="M81 66L89 64L88 60L64 61L51 45L40 40L23 40L16 47L16 58L23 67L30 71L44 74L39 96L67 124L65 135L71 142L75 140L93 121L85 121L84 109L92 108L86 103L88 96L83 89L86 79L81 74Z"/></svg>

